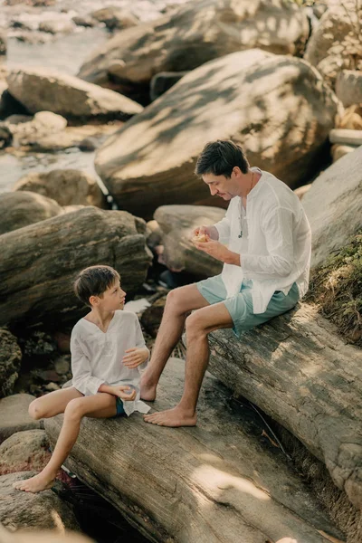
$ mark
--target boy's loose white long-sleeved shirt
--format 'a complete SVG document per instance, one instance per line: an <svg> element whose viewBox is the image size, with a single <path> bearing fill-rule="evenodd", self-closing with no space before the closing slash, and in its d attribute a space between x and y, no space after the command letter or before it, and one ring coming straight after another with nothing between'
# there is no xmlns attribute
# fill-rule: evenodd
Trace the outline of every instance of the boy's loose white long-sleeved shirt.
<svg viewBox="0 0 362 543"><path fill-rule="evenodd" d="M134 369L122 363L126 350L134 347L146 348L135 313L115 311L105 333L89 320L79 320L71 331L72 386L83 395L96 394L103 384L136 386L136 399L131 402L122 400L125 413L148 413L150 407L139 399L141 370L147 366L148 360Z"/></svg>

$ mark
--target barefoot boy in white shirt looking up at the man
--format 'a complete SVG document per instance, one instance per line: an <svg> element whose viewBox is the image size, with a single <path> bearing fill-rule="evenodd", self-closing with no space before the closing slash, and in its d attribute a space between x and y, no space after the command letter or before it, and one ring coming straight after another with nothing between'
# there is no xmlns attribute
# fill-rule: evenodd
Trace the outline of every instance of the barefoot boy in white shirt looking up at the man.
<svg viewBox="0 0 362 543"><path fill-rule="evenodd" d="M29 405L36 420L64 413L62 431L43 472L14 483L20 491L52 487L77 440L83 416L111 418L149 411L139 399L138 386L149 351L137 316L123 311L126 292L120 288L119 273L110 266L90 266L79 274L74 291L91 310L71 331L72 386Z"/></svg>

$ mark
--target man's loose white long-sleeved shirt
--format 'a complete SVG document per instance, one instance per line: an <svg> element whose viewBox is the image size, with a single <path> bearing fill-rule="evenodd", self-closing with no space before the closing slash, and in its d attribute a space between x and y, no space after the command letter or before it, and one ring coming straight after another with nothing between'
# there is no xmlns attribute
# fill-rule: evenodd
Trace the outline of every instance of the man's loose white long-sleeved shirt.
<svg viewBox="0 0 362 543"><path fill-rule="evenodd" d="M300 298L308 290L310 277L310 224L300 199L280 179L261 173L259 182L247 196L247 252L241 252L241 205L235 196L224 219L214 224L219 241L230 251L240 253L241 266L224 264L222 279L227 298L235 296L243 279L252 279L253 312L263 313L274 291L288 294L297 283Z"/></svg>

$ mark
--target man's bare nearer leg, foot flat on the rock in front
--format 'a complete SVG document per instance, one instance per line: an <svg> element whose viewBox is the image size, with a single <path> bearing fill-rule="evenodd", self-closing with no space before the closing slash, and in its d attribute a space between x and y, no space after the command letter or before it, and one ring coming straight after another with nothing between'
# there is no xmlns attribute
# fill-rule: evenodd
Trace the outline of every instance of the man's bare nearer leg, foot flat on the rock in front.
<svg viewBox="0 0 362 543"><path fill-rule="evenodd" d="M147 423L159 426L195 426L196 404L209 362L207 335L215 329L232 328L233 320L224 303L195 311L186 319L187 356L185 387L173 409L145 414Z"/></svg>

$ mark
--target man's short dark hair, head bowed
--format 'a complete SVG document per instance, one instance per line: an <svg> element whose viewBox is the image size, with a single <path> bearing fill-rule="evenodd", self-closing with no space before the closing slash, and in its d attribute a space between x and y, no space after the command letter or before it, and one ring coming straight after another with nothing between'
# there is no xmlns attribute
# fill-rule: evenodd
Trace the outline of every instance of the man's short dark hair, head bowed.
<svg viewBox="0 0 362 543"><path fill-rule="evenodd" d="M240 145L231 140L217 139L206 143L201 155L197 158L195 174L214 174L214 176L231 177L233 168L240 167L247 174L249 162Z"/></svg>

